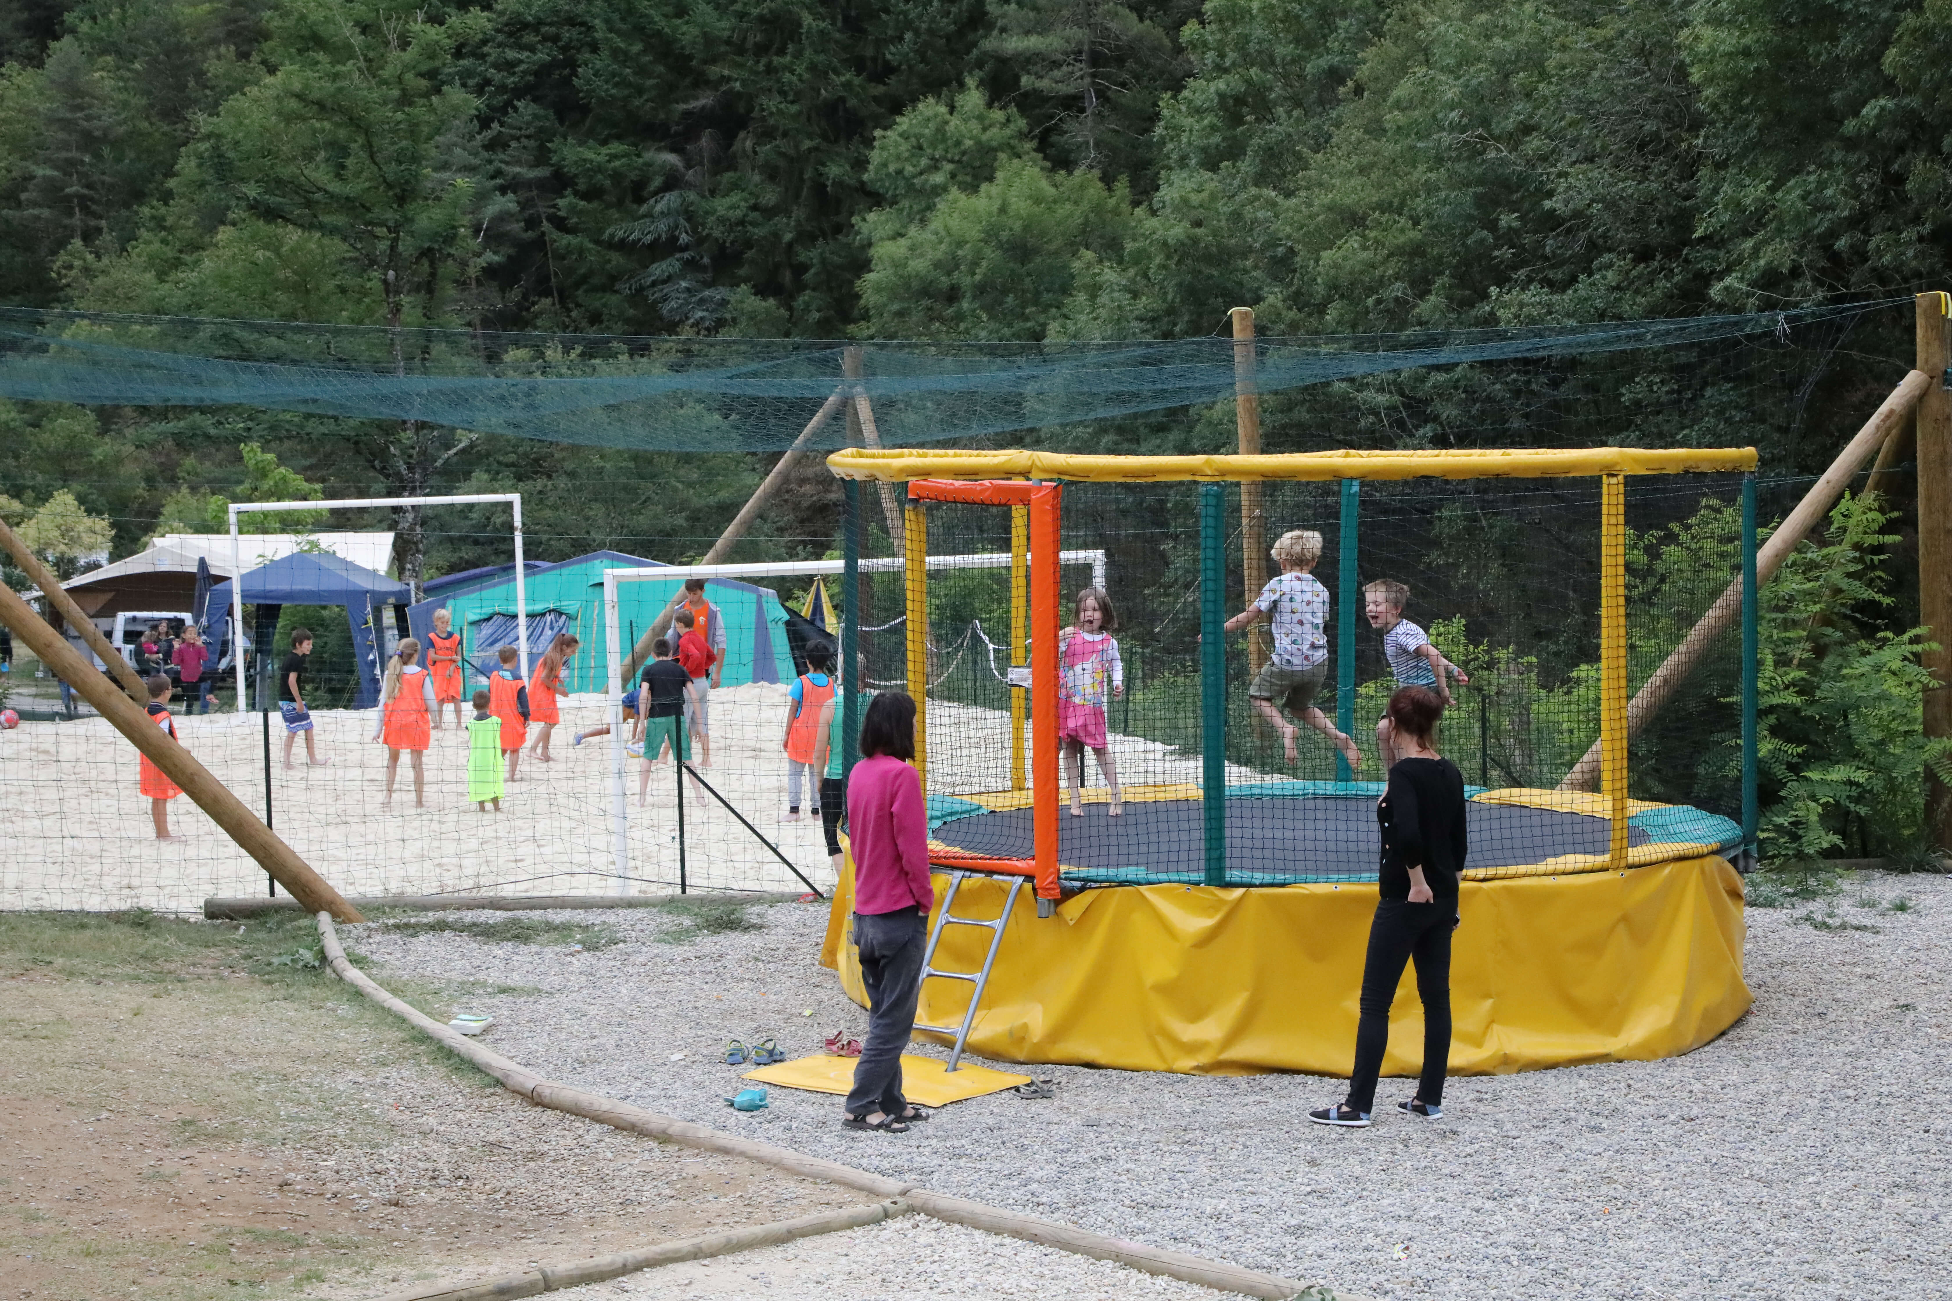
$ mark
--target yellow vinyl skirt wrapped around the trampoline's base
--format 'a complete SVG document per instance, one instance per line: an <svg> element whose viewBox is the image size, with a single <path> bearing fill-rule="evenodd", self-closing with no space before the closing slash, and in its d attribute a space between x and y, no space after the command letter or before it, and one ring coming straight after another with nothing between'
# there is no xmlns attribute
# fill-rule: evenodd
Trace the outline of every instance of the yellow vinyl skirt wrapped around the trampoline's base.
<svg viewBox="0 0 1952 1301"><path fill-rule="evenodd" d="M937 876L937 899L947 878ZM956 913L996 917L1007 884L964 882ZM841 872L822 964L863 1003ZM1673 1057L1749 1008L1741 878L1712 854L1626 872L1464 882L1450 967L1450 1071L1497 1075ZM968 1049L999 1061L1128 1071L1347 1075L1374 884L1117 886L1003 932ZM974 971L988 930L949 926L937 966ZM917 1020L958 1024L962 981L927 981ZM1388 1075L1421 1065L1423 1010L1405 969Z"/></svg>

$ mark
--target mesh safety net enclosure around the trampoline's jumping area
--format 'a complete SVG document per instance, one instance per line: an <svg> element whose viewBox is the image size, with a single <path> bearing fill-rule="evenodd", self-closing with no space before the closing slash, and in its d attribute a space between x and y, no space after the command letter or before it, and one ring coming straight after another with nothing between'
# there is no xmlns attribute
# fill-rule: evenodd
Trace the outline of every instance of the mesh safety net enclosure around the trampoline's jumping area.
<svg viewBox="0 0 1952 1301"><path fill-rule="evenodd" d="M880 490L861 484L855 493L874 556L900 550L900 525L890 527ZM890 490L906 501L906 486ZM1614 532L1624 546L1620 704L1739 585L1741 492L1741 474L1624 476L1624 529ZM1202 519L1202 501L1218 501L1218 532ZM921 511L929 550L1013 542L1009 507L929 501ZM1281 579L1281 564L1265 556L1288 532L1316 536L1282 548L1298 568ZM1064 880L1374 878L1384 790L1376 724L1400 681L1433 681L1421 646L1435 646L1444 673L1456 673L1439 747L1472 796L1470 876L1593 872L1733 854L1743 843L1733 628L1692 661L1683 690L1632 739L1626 804L1616 806L1601 782L1569 788L1606 729L1599 478L1072 482L1062 490L1062 544L1066 554L1103 550L1115 616L1105 642L1078 638L1089 575L1060 573ZM1265 558L1251 579L1243 550ZM863 575L861 669L871 689L925 677L923 770L933 837L947 850L939 862L1027 862L1040 800L1035 757L1044 743L1027 700L1035 689L1013 687L1009 673L1040 650L1035 634L1019 644L1035 628L1027 585L1005 572L931 575L925 659L904 665L900 632L915 607L892 579ZM1259 593L1269 579L1281 634L1271 622L1224 634L1214 673L1202 663L1204 601L1218 595L1232 618L1247 609L1247 587ZM1396 587L1376 591L1378 581ZM1294 644L1288 616L1318 628L1320 640ZM1337 747L1327 728L1353 751ZM1618 809L1624 845L1614 839Z"/></svg>

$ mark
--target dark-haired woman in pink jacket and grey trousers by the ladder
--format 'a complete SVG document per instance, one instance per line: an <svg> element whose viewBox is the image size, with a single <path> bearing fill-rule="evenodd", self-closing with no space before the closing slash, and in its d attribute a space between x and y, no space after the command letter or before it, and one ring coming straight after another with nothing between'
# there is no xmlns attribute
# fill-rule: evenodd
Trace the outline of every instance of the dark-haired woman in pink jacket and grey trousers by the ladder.
<svg viewBox="0 0 1952 1301"><path fill-rule="evenodd" d="M861 720L861 763L847 774L847 841L855 860L853 938L869 997L867 1044L847 1094L849 1129L908 1133L927 1120L902 1096L902 1049L915 1032L921 952L927 944L929 815L915 757L915 700L874 696Z"/></svg>

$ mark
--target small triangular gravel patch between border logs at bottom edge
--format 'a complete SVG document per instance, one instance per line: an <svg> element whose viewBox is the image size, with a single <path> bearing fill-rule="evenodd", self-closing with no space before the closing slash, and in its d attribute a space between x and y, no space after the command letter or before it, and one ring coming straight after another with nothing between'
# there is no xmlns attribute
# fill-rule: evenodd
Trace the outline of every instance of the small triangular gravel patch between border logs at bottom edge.
<svg viewBox="0 0 1952 1301"><path fill-rule="evenodd" d="M906 1215L869 1229L824 1233L714 1260L687 1260L550 1295L576 1301L781 1295L832 1295L847 1301L1214 1301L1220 1293L1054 1246L999 1239L927 1215Z"/></svg>

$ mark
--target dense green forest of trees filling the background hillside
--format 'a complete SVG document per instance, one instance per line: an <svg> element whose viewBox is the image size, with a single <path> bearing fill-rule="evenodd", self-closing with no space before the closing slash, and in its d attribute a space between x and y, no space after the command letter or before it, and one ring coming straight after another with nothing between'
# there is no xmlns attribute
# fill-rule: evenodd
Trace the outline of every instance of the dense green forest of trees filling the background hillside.
<svg viewBox="0 0 1952 1301"><path fill-rule="evenodd" d="M1948 20L1952 0L14 0L0 304L1064 341L1208 335L1241 304L1306 335L1890 298L1952 285ZM1903 375L1909 312L1804 349L1794 373L1724 353L1587 376L1577 419L1536 417L1573 410L1536 375L1298 390L1265 404L1265 443L1495 445L1525 408L1525 439L1755 443L1794 478ZM1224 451L1220 406L1089 439ZM107 521L115 556L297 482L519 488L531 556L677 562L771 464L10 402L0 447L0 509ZM736 558L830 550L837 495L810 460ZM402 534L402 577L506 560L486 511L435 527ZM1907 605L1866 628L1901 632Z"/></svg>

